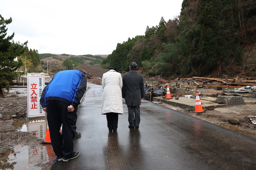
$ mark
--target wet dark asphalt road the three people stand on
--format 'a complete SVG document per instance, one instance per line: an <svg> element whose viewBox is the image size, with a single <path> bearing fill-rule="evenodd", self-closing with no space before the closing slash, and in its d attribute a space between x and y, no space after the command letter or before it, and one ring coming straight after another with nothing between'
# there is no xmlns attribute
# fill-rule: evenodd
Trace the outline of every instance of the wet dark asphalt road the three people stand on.
<svg viewBox="0 0 256 170"><path fill-rule="evenodd" d="M90 88L78 110L74 151L52 169L79 170L251 170L256 169L256 140L193 116L142 100L140 128L128 128L128 111L119 115L117 132L108 132L101 115L102 86Z"/></svg>

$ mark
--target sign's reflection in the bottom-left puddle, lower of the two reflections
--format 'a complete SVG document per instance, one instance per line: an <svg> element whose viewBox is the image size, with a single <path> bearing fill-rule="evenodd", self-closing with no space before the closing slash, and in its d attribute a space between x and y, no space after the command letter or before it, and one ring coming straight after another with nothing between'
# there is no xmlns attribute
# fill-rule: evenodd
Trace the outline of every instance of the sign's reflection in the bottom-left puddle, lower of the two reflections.
<svg viewBox="0 0 256 170"><path fill-rule="evenodd" d="M29 147L28 148L29 164L36 162L46 161L46 148L40 147Z"/></svg>

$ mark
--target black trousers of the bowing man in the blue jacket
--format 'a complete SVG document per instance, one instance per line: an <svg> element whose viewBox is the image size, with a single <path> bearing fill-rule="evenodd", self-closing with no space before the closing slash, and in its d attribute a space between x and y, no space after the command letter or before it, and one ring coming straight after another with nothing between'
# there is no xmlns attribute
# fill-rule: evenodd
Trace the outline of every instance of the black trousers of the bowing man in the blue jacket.
<svg viewBox="0 0 256 170"><path fill-rule="evenodd" d="M47 121L52 148L56 156L68 157L73 154L75 137L75 114L68 112L68 104L58 100L48 100ZM62 134L60 127L62 124Z"/></svg>

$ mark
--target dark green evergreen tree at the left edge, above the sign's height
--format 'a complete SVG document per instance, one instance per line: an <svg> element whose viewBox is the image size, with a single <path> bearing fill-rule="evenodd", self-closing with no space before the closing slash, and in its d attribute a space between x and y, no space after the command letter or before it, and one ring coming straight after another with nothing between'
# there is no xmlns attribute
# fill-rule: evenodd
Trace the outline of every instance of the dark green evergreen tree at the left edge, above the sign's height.
<svg viewBox="0 0 256 170"><path fill-rule="evenodd" d="M25 48L23 46L28 42L22 45L11 42L14 33L6 37L6 25L12 22L12 18L4 19L2 15L0 15L0 18L0 97L3 98L2 88L9 90L9 82L16 78L14 71L22 65L21 62L16 62L14 59L24 52Z"/></svg>

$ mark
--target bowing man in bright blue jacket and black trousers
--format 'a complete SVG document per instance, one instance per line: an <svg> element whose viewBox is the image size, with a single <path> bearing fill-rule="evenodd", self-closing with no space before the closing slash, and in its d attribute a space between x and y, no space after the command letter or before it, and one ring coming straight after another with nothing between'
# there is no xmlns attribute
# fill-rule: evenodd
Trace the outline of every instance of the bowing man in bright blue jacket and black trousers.
<svg viewBox="0 0 256 170"><path fill-rule="evenodd" d="M40 103L47 112L52 148L58 161L79 156L74 152L75 116L77 106L86 90L87 78L79 70L63 70L55 74L44 88ZM62 134L60 127L62 124Z"/></svg>

